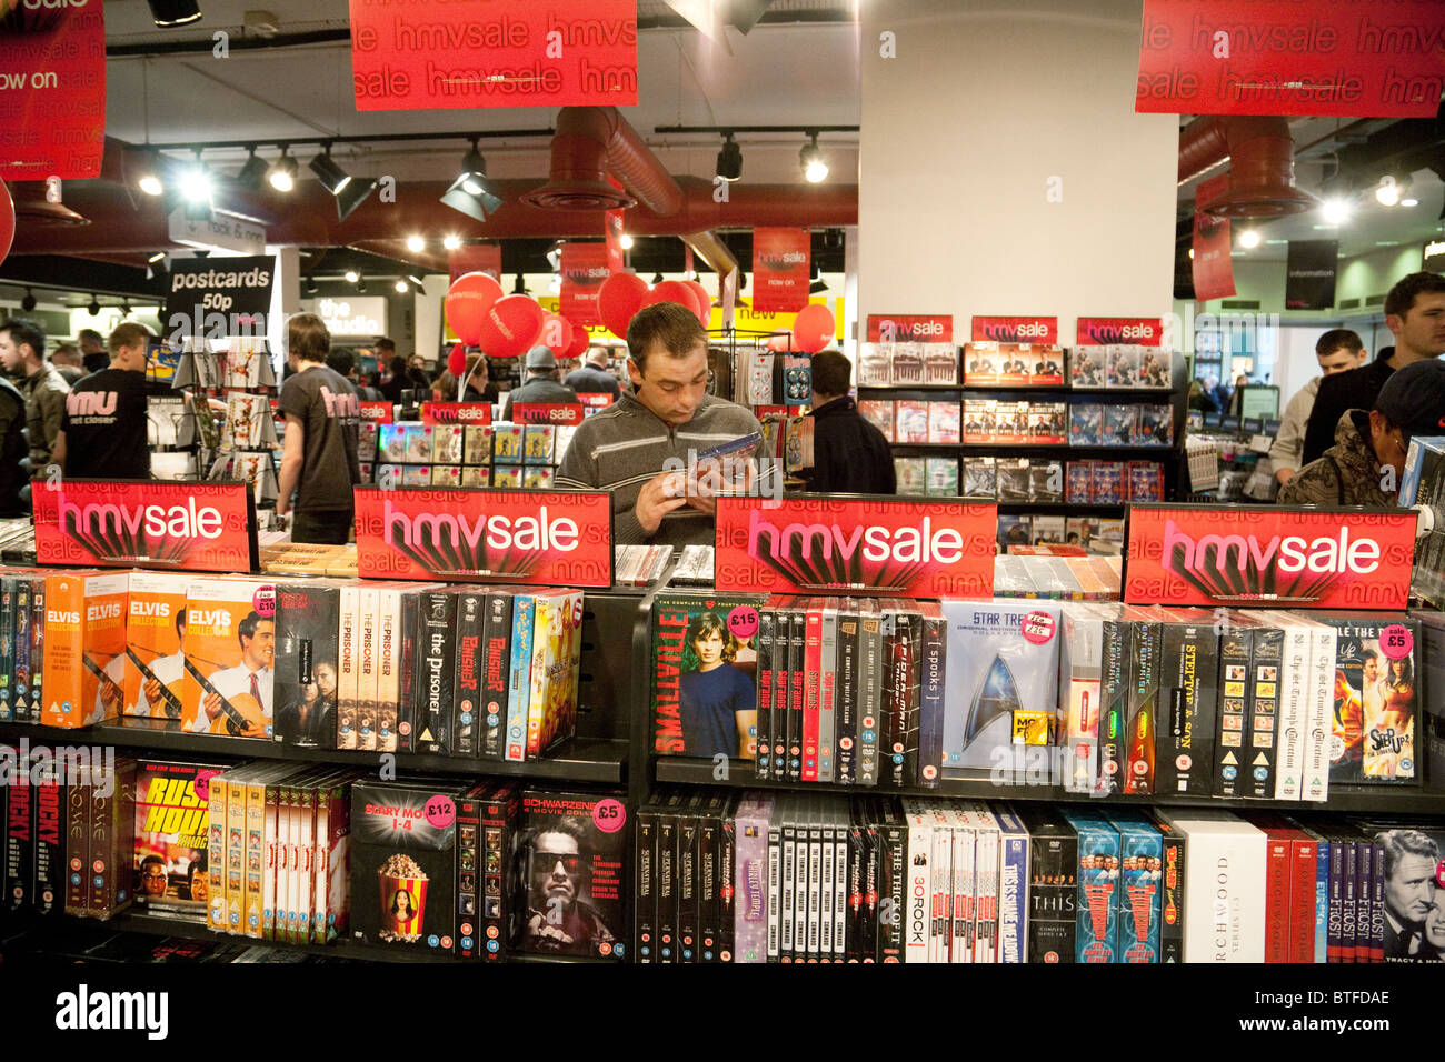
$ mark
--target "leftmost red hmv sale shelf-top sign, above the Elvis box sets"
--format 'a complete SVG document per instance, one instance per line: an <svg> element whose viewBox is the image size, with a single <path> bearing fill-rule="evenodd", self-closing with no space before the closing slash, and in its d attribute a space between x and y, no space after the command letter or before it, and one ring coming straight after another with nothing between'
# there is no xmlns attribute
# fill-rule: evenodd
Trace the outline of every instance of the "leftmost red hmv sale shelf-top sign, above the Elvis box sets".
<svg viewBox="0 0 1445 1062"><path fill-rule="evenodd" d="M253 572L256 509L244 483L62 480L35 484L42 565Z"/></svg>

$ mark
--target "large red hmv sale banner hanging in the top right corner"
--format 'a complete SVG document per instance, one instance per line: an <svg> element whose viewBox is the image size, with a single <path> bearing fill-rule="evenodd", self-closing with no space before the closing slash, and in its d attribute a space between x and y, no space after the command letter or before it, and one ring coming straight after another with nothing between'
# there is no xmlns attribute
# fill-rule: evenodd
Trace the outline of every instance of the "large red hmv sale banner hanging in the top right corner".
<svg viewBox="0 0 1445 1062"><path fill-rule="evenodd" d="M1134 110L1431 118L1439 0L1144 0Z"/></svg>

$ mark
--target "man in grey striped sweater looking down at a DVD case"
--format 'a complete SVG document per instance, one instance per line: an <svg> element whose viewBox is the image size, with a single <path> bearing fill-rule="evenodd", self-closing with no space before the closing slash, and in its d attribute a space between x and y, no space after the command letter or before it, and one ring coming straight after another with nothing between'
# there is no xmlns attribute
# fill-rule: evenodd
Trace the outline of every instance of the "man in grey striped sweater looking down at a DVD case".
<svg viewBox="0 0 1445 1062"><path fill-rule="evenodd" d="M582 422L553 483L611 491L618 545L712 545L714 497L676 470L691 468L696 452L760 432L757 418L707 393L708 334L681 305L640 309L627 327L627 353L633 390Z"/></svg>

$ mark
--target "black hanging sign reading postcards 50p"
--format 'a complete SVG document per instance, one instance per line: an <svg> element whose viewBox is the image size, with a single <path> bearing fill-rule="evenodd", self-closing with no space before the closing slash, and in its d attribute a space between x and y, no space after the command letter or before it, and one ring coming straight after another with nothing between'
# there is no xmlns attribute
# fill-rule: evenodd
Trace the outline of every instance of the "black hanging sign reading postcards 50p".
<svg viewBox="0 0 1445 1062"><path fill-rule="evenodd" d="M172 342L186 335L264 335L275 282L270 254L175 262L166 277L165 332Z"/></svg>

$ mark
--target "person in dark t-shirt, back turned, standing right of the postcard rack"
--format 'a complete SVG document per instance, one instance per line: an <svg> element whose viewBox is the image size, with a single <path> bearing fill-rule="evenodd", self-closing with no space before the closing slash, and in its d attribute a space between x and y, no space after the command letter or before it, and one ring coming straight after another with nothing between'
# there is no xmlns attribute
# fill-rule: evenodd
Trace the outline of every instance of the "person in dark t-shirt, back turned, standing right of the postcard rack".
<svg viewBox="0 0 1445 1062"><path fill-rule="evenodd" d="M280 389L286 445L276 514L295 507L292 542L341 545L351 536L351 488L361 483L357 396L351 384L327 368L331 332L315 314L290 319L288 345L296 373Z"/></svg>

